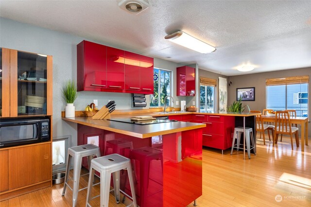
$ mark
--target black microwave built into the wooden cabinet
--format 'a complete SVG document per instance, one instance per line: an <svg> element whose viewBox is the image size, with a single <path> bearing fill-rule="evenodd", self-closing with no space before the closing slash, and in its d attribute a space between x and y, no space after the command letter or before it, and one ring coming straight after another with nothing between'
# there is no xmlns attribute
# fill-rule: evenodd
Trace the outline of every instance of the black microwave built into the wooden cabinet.
<svg viewBox="0 0 311 207"><path fill-rule="evenodd" d="M0 120L0 148L49 140L49 118L2 118Z"/></svg>

